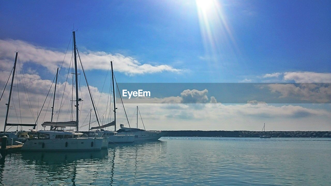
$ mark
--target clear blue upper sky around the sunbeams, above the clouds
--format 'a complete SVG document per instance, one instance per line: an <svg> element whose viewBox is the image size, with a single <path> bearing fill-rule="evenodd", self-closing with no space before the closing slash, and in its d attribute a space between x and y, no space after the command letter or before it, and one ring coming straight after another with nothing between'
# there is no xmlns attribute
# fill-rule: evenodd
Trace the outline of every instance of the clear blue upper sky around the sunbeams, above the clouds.
<svg viewBox="0 0 331 186"><path fill-rule="evenodd" d="M331 72L330 1L219 4L237 49L219 43L215 64L202 59L208 50L195 1L3 1L0 38L65 51L74 24L81 50L187 70L121 76L121 82L238 82L273 72ZM227 33L217 34L230 42Z"/></svg>

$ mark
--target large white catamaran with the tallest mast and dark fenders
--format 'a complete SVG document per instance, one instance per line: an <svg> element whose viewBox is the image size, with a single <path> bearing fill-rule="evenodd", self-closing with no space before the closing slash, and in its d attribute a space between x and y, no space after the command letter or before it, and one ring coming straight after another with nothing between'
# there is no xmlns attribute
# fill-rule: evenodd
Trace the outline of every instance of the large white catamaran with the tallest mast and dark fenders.
<svg viewBox="0 0 331 186"><path fill-rule="evenodd" d="M77 57L76 57L76 39L75 31L73 34L73 48L74 48L74 66L75 66L75 89L76 99L71 100L76 103L76 121L53 122L46 121L42 125L50 126L50 130L32 130L37 133L36 139L28 140L22 146L22 151L72 151L72 150L101 150L108 139L102 137L82 137L83 133L78 131L79 124L79 102L82 101L78 98L78 73L77 73ZM78 51L77 51L78 52ZM56 86L55 86L56 87ZM53 98L54 100L55 98ZM54 102L53 102L54 108ZM53 110L53 109L52 109ZM53 118L53 112L52 112ZM51 119L52 120L52 119ZM76 131L66 131L65 127L74 126Z"/></svg>

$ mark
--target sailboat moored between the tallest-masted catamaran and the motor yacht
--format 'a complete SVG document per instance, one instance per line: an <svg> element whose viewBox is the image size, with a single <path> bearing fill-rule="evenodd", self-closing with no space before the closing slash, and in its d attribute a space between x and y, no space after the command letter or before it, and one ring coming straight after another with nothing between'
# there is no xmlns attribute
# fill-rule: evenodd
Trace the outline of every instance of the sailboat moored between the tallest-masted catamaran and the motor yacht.
<svg viewBox="0 0 331 186"><path fill-rule="evenodd" d="M95 135L95 133L98 136L104 136L107 137L109 140L109 143L132 143L134 141L134 135L132 134L124 134L124 135L118 135L116 132L116 102L115 102L115 85L114 85L114 71L113 71L113 61L110 62L112 67L112 85L113 85L113 100L114 100L114 121L107 123L105 125L91 127L90 131L88 131L89 135ZM114 126L115 131L110 130L104 130L104 128ZM95 130L94 129L100 129Z"/></svg>

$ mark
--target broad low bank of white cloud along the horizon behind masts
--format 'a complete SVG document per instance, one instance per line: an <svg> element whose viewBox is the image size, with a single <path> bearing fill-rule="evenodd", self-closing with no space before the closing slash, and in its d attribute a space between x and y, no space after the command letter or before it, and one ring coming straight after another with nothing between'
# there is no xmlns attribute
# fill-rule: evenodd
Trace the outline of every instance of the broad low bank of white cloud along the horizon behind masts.
<svg viewBox="0 0 331 186"><path fill-rule="evenodd" d="M9 73L9 72L8 72ZM8 75L8 73L0 73L1 83L4 82L6 78L3 76ZM20 77L20 75L18 76ZM24 74L26 88L29 90L29 97L33 107L33 113L36 116L38 108L39 99L39 109L44 102L45 96L52 84L50 80L41 79L38 75ZM11 114L9 122L17 122L16 113L19 115L19 105L18 105L18 94L17 88L21 90L20 92L20 105L22 120L24 123L34 123L29 110L28 101L25 98L25 94L22 87L22 80L18 78L19 86L14 85L13 102L11 104ZM65 83L58 83L57 90L59 91L56 97L55 110L58 111L60 106L62 92ZM95 102L98 102L99 96L100 101L97 107L99 111L100 121L102 116L105 116L105 120L108 116L104 114L107 108L108 93L100 94L96 87L90 86L92 94L94 96ZM52 93L53 89L51 89ZM22 94L21 94L22 93ZM71 85L67 84L66 93L64 96L62 112L60 114L59 120L67 121L71 118ZM237 105L223 105L217 104L184 104L184 103L215 103L216 99L210 97L206 98L208 90L184 90L180 96L169 97L169 98L158 98L163 103L172 104L139 104L139 110L144 119L146 129L148 130L255 130L260 129L261 123L265 122L266 118L268 120L270 129L273 130L326 130L329 127L329 120L331 119L331 113L327 110L322 109L309 109L302 106L274 106L268 105L260 101L248 101L247 104L237 104ZM80 88L80 98L84 101L80 102L80 126L88 124L88 120L85 118L88 115L89 110L92 108L89 100L89 93L86 86L81 86ZM182 97L185 97L184 99ZM1 100L0 105L2 105L3 110L5 110L4 103L7 102L8 91L5 92L4 101ZM39 118L39 126L41 127L42 121L50 120L50 107L52 103L50 97L46 100L44 111L41 113ZM74 99L74 98L73 98ZM150 98L156 99L156 98ZM185 101L183 101L185 100ZM117 102L117 120L119 123L126 123L126 117L123 113L122 106L120 102ZM176 103L176 104L173 104ZM14 108L15 104L15 108ZM137 104L125 104L126 113L130 121L135 123L135 108ZM48 108L48 112L45 113ZM73 106L74 108L74 106ZM16 112L15 110L16 109ZM109 108L108 108L109 110ZM92 109L93 111L93 109ZM57 118L57 112L55 112L55 118ZM0 113L1 120L4 120L5 112ZM281 118L281 120L279 120ZM75 118L73 118L75 119ZM85 120L85 122L84 122ZM92 113L92 120L93 113ZM318 121L316 124L312 125L312 121ZM108 122L108 121L104 121ZM140 121L139 121L140 122ZM300 123L300 124L297 124ZM328 124L327 124L328 123ZM131 123L132 124L132 123ZM3 125L3 124L2 124ZM93 126L96 126L93 123ZM139 125L139 127L142 127ZM320 128L318 128L320 127ZM88 126L82 127L82 130L87 130ZM12 128L13 129L13 128ZM15 128L16 130L16 128ZM26 130L26 129L25 129Z"/></svg>

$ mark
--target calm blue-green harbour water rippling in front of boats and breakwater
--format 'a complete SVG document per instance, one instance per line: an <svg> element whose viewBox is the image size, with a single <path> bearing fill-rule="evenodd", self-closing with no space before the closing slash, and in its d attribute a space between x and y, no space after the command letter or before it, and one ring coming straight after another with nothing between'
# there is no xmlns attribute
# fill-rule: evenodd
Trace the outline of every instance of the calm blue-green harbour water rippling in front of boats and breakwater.
<svg viewBox="0 0 331 186"><path fill-rule="evenodd" d="M101 152L14 153L1 185L331 185L331 139L166 137Z"/></svg>

